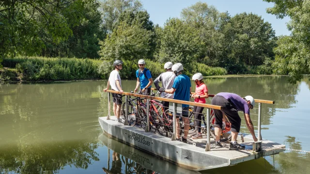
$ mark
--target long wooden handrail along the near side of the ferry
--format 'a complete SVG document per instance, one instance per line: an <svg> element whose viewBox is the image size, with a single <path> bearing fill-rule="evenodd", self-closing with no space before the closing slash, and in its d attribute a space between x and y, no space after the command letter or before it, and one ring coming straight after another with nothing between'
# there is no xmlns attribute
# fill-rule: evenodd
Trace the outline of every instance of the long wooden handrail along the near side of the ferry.
<svg viewBox="0 0 310 174"><path fill-rule="evenodd" d="M120 91L115 91L115 90L107 90L107 92L111 92L111 93L115 93L115 94L121 94ZM182 100L175 100L175 99L167 99L167 98L162 98L162 97L147 96L147 95L134 94L134 93L129 93L129 92L123 92L122 95L130 95L130 96L146 98L146 99L153 99L153 100L160 100L160 101L165 101L165 102L175 102L175 103L180 103L180 104L189 104L189 105L192 105L192 106L200 106L200 107L206 107L206 108L218 109L218 110L221 110L223 108L222 106L217 106L217 105L212 105L212 104L187 102L187 101L182 101Z"/></svg>

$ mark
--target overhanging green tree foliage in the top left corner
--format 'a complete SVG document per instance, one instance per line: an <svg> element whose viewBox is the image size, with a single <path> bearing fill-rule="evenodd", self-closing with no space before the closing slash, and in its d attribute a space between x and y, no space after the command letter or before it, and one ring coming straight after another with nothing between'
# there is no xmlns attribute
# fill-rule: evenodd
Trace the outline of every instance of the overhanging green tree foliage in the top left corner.
<svg viewBox="0 0 310 174"><path fill-rule="evenodd" d="M16 53L33 55L46 45L47 32L54 43L72 35L89 0L2 0L0 1L0 62Z"/></svg>

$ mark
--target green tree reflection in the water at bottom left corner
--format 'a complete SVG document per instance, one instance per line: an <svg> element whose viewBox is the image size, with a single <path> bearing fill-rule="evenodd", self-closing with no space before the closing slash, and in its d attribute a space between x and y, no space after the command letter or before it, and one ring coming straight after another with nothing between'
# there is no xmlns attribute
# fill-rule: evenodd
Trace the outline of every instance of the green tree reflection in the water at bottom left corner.
<svg viewBox="0 0 310 174"><path fill-rule="evenodd" d="M87 169L97 161L94 142L54 142L29 145L20 142L0 148L0 172L21 174L56 174L65 166Z"/></svg>

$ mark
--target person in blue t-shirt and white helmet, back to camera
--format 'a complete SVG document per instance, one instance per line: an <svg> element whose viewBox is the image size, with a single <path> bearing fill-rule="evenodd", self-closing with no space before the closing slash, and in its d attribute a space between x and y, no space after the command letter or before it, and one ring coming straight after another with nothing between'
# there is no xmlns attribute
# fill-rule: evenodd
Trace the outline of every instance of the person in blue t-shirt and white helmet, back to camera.
<svg viewBox="0 0 310 174"><path fill-rule="evenodd" d="M174 93L173 99L189 101L190 91L192 90L190 79L187 75L182 74L183 65L181 63L176 63L172 66L172 71L177 77L174 78L173 85L171 89L165 89L164 87L159 88L159 92ZM182 104L182 117L184 120L184 137L182 137L182 142L187 143L187 134L189 130L188 121L188 104ZM176 129L177 132L180 131L180 117L181 114L176 114ZM181 141L180 134L176 134L178 141Z"/></svg>

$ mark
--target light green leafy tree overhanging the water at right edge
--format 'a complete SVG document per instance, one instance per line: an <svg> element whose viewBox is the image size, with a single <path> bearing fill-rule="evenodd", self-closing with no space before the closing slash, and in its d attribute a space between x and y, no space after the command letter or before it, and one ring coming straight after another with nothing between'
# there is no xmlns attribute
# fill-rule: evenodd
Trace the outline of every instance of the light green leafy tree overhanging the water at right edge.
<svg viewBox="0 0 310 174"><path fill-rule="evenodd" d="M274 49L274 67L275 73L289 74L289 82L296 83L303 78L303 74L310 73L310 0L264 1L275 4L267 9L267 13L278 18L291 18L287 27L292 34L280 37L279 45Z"/></svg>

